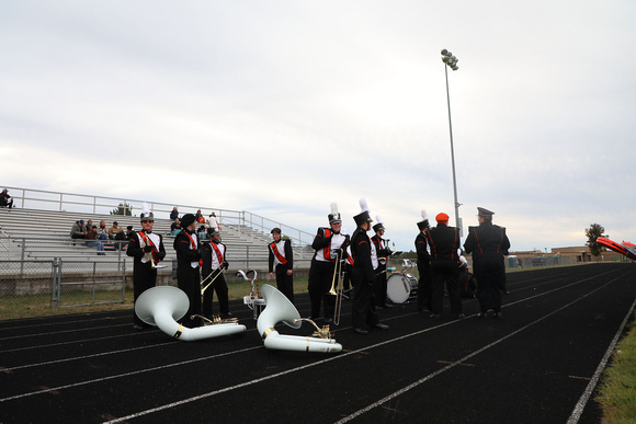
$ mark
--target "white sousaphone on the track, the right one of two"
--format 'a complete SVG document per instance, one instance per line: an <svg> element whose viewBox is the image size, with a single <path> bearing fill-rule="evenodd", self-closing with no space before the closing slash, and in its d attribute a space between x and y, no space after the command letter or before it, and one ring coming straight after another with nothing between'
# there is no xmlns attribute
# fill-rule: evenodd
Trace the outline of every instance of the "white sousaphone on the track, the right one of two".
<svg viewBox="0 0 636 424"><path fill-rule="evenodd" d="M265 299L266 307L259 316L257 328L266 348L323 353L342 351L342 345L332 339L328 325L319 329L314 321L300 318L294 303L276 288L264 284L261 287L261 295ZM313 336L280 334L274 325L281 321L293 329L299 329L303 321L309 321L318 331Z"/></svg>

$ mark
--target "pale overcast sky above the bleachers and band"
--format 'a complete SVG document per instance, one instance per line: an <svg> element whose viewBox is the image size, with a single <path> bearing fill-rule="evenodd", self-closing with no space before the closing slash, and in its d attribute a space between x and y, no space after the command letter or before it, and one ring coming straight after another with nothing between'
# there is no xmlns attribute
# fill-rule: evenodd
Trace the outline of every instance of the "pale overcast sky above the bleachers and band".
<svg viewBox="0 0 636 424"><path fill-rule="evenodd" d="M3 1L0 185L636 241L636 2Z"/></svg>

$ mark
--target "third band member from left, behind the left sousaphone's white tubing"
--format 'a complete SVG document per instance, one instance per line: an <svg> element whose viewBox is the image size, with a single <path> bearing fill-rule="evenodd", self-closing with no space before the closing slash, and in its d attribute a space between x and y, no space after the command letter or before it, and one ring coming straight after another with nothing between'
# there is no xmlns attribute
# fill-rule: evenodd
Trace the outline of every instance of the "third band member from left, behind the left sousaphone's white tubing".
<svg viewBox="0 0 636 424"><path fill-rule="evenodd" d="M203 294L203 316L212 319L212 302L216 293L220 318L228 318L231 317L231 313L229 312L227 283L223 275L223 270L229 267L225 259L225 244L220 242L220 231L216 227L207 229L207 237L209 241L204 242L201 248L201 274L203 276L201 286L203 288L209 284Z"/></svg>

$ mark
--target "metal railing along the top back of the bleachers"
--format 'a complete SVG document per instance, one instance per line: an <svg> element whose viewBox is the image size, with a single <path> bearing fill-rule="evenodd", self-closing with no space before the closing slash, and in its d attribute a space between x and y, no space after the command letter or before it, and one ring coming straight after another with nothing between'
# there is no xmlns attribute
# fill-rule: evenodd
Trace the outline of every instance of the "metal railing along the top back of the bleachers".
<svg viewBox="0 0 636 424"><path fill-rule="evenodd" d="M201 209L204 217L208 217L214 211L222 228L224 224L236 225L239 232L257 231L264 238L269 238L271 229L279 227L282 229L283 234L287 236L296 247L304 248L314 241L314 234L310 232L252 214L248 210L220 209L201 205L167 204L147 199L49 192L23 187L2 186L2 188L9 190L9 194L13 197L14 207L20 208L109 215L114 209L122 207L125 215L128 215L128 213L129 215L137 215L140 213L144 203L147 203L156 218L169 218L173 207L178 208L180 215L188 213L194 214Z"/></svg>

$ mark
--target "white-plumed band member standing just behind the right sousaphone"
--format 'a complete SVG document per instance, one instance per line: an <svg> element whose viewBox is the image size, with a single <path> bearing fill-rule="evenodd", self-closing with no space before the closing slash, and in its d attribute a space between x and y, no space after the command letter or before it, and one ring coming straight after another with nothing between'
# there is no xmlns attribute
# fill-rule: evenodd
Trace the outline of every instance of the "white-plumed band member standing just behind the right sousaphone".
<svg viewBox="0 0 636 424"><path fill-rule="evenodd" d="M349 239L342 234L342 219L338 211L338 205L331 204L329 228L320 227L314 238L311 248L316 251L309 267L309 300L311 301L311 319L320 316L320 302L323 302L325 322L333 321L336 309L336 296L329 294L333 280L336 260L342 256L341 250L347 249Z"/></svg>

